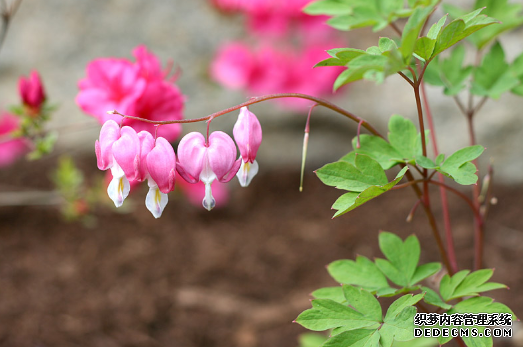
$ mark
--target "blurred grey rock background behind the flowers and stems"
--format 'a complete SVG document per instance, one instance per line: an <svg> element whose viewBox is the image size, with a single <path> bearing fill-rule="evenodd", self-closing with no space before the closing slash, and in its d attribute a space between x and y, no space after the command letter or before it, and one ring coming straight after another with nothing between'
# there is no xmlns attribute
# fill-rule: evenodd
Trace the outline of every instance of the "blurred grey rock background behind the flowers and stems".
<svg viewBox="0 0 523 347"><path fill-rule="evenodd" d="M387 34L392 35L381 35ZM365 48L375 44L378 35L360 30L347 40L352 47ZM241 18L221 15L207 0L24 0L0 51L0 107L18 102L18 77L37 69L49 99L60 104L50 124L60 129L58 152L92 152L99 125L74 102L77 81L84 77L89 61L132 58L135 46L147 45L162 62L173 59L181 67L178 85L188 97L185 116L196 118L245 100L242 93L220 88L207 75L220 43L241 37ZM504 37L509 59L523 48L521 42L521 30ZM452 99L436 88L429 88L429 94L440 150L450 154L468 145L465 119ZM357 82L334 100L383 132L394 113L416 118L412 90L400 77L393 76L380 86ZM497 179L506 183L523 182L522 107L523 99L505 95L489 101L477 116L477 138L487 147L483 168L492 158ZM298 168L306 114L290 114L271 104L251 110L264 126L261 168ZM213 122L213 128L230 132L235 118L222 117ZM204 129L204 124L196 124L186 126L184 132ZM315 111L308 168L315 169L349 151L355 132L356 124L330 111Z"/></svg>

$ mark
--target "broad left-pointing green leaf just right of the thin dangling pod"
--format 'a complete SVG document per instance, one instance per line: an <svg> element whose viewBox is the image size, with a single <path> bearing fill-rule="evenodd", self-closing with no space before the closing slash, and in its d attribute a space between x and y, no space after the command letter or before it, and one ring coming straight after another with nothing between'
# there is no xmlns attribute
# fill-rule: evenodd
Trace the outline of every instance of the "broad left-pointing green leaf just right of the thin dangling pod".
<svg viewBox="0 0 523 347"><path fill-rule="evenodd" d="M316 170L316 174L325 185L354 192L363 192L369 187L388 183L381 165L363 154L356 155L355 165L337 161Z"/></svg>

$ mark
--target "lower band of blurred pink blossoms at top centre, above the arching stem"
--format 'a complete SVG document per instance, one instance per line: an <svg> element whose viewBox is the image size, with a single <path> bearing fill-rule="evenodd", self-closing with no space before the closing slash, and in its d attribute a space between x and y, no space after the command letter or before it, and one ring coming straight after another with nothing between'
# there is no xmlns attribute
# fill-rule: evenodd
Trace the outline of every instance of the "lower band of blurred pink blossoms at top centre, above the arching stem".
<svg viewBox="0 0 523 347"><path fill-rule="evenodd" d="M313 66L329 58L326 50L341 45L338 41L326 41L301 48L275 48L269 44L252 48L241 42L232 42L218 51L211 63L210 74L223 86L245 90L249 95L304 93L329 96L343 67ZM292 98L277 102L295 110L311 105L310 101Z"/></svg>

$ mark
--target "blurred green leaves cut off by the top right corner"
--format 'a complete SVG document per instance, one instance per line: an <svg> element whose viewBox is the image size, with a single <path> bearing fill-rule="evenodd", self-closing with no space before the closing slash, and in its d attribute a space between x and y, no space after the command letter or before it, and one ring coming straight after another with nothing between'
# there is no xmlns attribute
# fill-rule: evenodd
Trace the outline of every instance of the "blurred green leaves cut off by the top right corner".
<svg viewBox="0 0 523 347"><path fill-rule="evenodd" d="M468 37L468 40L478 49L485 47L500 34L523 24L521 4L509 4L508 0L476 0L474 8L485 8L484 14L500 21L498 25L485 28ZM443 4L443 9L454 18L466 13L465 10L451 4Z"/></svg>

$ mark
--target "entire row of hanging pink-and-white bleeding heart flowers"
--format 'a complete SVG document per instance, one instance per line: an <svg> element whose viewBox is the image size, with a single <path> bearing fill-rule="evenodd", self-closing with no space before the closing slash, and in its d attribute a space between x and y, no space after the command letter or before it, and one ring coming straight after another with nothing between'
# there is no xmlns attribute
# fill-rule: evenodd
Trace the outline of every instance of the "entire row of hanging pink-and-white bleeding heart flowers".
<svg viewBox="0 0 523 347"><path fill-rule="evenodd" d="M211 133L208 138L197 132L185 135L177 157L165 138L154 138L145 130L137 133L110 119L102 126L95 143L97 165L100 170L111 170L113 178L107 193L116 207L128 196L131 182L147 179L149 192L145 205L159 218L167 205L167 194L174 189L177 172L188 183L203 182L202 204L211 210L216 205L211 187L214 181L226 183L238 174L240 184L247 186L258 171L255 158L262 130L256 116L245 107L234 126L234 138L240 149L239 158L235 142L221 131Z"/></svg>

